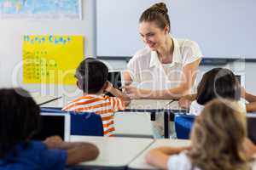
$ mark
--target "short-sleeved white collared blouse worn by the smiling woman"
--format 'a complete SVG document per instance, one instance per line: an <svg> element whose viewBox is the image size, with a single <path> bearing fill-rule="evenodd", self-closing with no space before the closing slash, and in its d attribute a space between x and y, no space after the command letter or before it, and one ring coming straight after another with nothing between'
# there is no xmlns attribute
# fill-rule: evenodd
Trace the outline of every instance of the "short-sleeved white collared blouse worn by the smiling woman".
<svg viewBox="0 0 256 170"><path fill-rule="evenodd" d="M174 50L172 63L163 65L156 51L146 47L138 51L127 68L138 88L153 90L176 88L181 81L183 67L201 59L201 49L196 42L172 38Z"/></svg>

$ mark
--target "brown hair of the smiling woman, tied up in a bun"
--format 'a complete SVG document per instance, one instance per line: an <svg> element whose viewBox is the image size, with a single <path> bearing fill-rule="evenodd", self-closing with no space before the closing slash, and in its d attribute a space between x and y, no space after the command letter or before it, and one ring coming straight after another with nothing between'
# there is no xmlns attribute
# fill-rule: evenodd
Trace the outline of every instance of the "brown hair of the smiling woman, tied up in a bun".
<svg viewBox="0 0 256 170"><path fill-rule="evenodd" d="M147 8L140 17L139 22L154 22L160 29L164 29L169 26L171 30L170 19L168 16L168 9L166 3L155 3L150 8Z"/></svg>

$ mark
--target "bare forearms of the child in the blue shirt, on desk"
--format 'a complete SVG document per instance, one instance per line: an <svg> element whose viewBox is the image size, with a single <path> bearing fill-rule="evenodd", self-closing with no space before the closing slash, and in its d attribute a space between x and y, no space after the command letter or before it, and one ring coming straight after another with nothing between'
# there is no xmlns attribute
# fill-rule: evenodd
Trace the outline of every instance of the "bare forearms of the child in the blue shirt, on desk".
<svg viewBox="0 0 256 170"><path fill-rule="evenodd" d="M91 161L99 155L96 145L82 142L64 142L58 136L49 137L44 141L48 149L67 150L66 165L81 161Z"/></svg>

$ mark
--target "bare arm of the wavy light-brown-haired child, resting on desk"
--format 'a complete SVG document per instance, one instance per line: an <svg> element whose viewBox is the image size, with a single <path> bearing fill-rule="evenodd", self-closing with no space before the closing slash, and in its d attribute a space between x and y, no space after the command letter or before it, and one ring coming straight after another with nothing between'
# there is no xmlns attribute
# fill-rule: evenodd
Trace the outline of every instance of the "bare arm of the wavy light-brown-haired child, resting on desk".
<svg viewBox="0 0 256 170"><path fill-rule="evenodd" d="M187 147L159 147L153 150L149 150L146 161L155 166L160 167L161 169L167 169L167 162L169 156L178 154L182 150L189 150L190 146Z"/></svg>

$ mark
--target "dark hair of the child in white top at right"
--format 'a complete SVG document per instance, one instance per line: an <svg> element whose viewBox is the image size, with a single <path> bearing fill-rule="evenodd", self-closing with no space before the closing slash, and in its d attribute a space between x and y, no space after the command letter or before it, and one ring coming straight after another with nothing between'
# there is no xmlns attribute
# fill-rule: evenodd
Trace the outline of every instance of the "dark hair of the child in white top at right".
<svg viewBox="0 0 256 170"><path fill-rule="evenodd" d="M228 69L214 68L207 71L197 87L196 100L200 105L218 97L235 100L241 98L240 84L234 73Z"/></svg>

